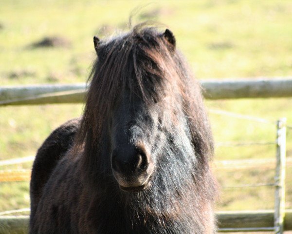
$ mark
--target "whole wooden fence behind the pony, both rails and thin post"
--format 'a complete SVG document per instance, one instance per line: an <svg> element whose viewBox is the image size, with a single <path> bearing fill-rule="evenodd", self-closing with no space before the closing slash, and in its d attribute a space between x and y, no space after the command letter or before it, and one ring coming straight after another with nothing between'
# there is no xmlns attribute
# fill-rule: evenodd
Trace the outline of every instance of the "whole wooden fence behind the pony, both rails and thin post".
<svg viewBox="0 0 292 234"><path fill-rule="evenodd" d="M245 79L225 81L201 81L204 97L207 99L232 98L288 98L292 97L292 77L285 79ZM6 86L0 87L0 105L38 105L53 103L81 103L86 94L86 84L73 85L34 85L34 86ZM282 126L283 127L283 126ZM278 130L282 128L278 126ZM278 132L279 134L279 132ZM278 136L279 138L279 136ZM275 231L292 230L292 210L284 210L283 172L279 158L285 155L283 147L277 144L276 192L279 196L274 210L218 212L220 232L240 231ZM280 161L278 161L278 159ZM282 158L283 159L283 158ZM285 159L284 159L285 162ZM284 171L285 172L285 171ZM282 183L282 184L281 184ZM279 187L280 186L280 187ZM283 198L283 199L282 199ZM276 214L279 212L279 214ZM276 219L275 217L279 217ZM28 216L0 216L0 234L22 234L28 230ZM284 223L284 226L283 226ZM281 226L282 224L282 226ZM276 227L276 228L275 228ZM279 230L277 228L281 228Z"/></svg>

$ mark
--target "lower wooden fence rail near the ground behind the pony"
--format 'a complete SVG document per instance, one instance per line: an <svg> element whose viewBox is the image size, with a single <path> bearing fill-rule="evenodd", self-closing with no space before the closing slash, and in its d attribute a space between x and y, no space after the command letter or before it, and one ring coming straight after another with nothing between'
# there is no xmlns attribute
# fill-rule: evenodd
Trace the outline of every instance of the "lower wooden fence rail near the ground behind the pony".
<svg viewBox="0 0 292 234"><path fill-rule="evenodd" d="M292 230L292 210L286 210L284 230ZM218 212L219 232L267 230L274 227L274 211L228 211ZM27 234L29 217L0 216L0 234Z"/></svg>

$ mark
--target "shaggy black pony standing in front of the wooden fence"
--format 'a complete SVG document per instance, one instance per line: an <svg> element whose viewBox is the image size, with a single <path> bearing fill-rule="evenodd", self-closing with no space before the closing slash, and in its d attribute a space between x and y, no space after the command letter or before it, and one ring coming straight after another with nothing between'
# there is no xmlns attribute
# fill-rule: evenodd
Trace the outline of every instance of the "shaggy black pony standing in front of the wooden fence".
<svg viewBox="0 0 292 234"><path fill-rule="evenodd" d="M215 233L212 135L173 34L93 40L84 115L37 152L30 233Z"/></svg>

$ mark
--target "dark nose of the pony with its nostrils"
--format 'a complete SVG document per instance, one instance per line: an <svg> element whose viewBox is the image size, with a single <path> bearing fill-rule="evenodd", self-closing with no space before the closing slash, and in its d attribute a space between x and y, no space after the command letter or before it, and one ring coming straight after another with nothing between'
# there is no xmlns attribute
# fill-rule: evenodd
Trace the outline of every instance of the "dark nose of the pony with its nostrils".
<svg viewBox="0 0 292 234"><path fill-rule="evenodd" d="M142 173L146 171L148 165L148 159L146 153L141 150L135 150L129 153L128 150L119 152L113 151L111 158L112 169L125 176L130 176L136 173Z"/></svg>

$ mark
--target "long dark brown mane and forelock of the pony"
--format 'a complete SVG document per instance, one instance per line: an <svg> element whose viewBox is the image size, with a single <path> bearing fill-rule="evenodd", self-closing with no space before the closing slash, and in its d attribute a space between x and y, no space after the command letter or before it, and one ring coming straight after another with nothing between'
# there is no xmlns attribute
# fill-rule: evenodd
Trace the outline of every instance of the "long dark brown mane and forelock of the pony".
<svg viewBox="0 0 292 234"><path fill-rule="evenodd" d="M75 147L100 145L105 123L125 89L157 102L176 84L202 165L213 155L213 139L202 103L201 86L174 45L156 27L139 24L124 35L101 41L89 80L91 85Z"/></svg>

